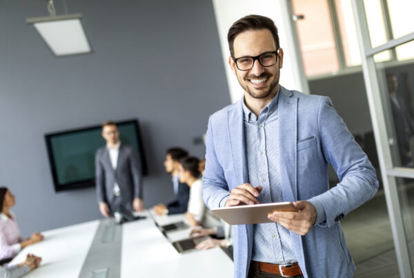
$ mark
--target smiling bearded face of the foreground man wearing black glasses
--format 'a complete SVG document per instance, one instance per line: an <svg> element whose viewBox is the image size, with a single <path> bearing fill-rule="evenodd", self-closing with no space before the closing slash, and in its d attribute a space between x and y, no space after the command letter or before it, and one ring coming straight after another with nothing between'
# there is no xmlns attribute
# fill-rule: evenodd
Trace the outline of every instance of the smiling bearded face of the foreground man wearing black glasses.
<svg viewBox="0 0 414 278"><path fill-rule="evenodd" d="M268 29L244 31L237 35L233 43L235 58L255 57L276 50L273 35ZM283 50L280 49L277 62L270 67L263 67L256 60L250 70L239 70L232 57L229 58L228 63L244 91L255 99L264 99L278 88L280 68L283 65Z"/></svg>

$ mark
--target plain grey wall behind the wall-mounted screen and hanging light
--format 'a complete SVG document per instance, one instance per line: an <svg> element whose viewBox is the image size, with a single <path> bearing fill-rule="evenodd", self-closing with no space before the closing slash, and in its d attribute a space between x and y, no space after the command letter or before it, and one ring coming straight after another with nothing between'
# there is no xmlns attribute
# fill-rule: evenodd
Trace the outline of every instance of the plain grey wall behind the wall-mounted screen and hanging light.
<svg viewBox="0 0 414 278"><path fill-rule="evenodd" d="M67 2L83 13L92 54L53 56L25 23L47 14L44 0L0 0L0 184L17 196L24 236L100 218L95 188L55 193L45 133L138 118L149 207L173 198L166 148L202 157L193 137L230 103L211 1Z"/></svg>

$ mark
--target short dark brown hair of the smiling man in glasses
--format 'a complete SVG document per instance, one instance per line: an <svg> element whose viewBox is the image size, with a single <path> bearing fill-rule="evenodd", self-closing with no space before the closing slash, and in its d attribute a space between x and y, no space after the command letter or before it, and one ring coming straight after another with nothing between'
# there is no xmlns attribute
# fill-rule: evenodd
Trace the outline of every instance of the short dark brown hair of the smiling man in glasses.
<svg viewBox="0 0 414 278"><path fill-rule="evenodd" d="M277 34L277 27L275 22L268 17L263 17L262 15L250 14L246 17L242 17L237 20L233 25L228 29L227 41L228 48L230 48L230 55L235 57L235 52L233 50L233 43L238 34L248 31L248 30L260 30L268 29L275 39L276 48L279 49L279 35Z"/></svg>

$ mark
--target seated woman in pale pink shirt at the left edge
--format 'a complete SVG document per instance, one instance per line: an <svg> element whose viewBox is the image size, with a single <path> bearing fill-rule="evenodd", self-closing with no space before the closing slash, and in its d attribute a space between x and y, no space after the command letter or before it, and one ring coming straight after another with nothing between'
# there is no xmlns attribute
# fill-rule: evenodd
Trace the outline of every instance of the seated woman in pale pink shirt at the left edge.
<svg viewBox="0 0 414 278"><path fill-rule="evenodd" d="M0 187L0 259L14 257L30 244L43 240L43 235L35 232L29 239L23 240L17 226L16 217L10 208L16 204L14 195L6 187Z"/></svg>

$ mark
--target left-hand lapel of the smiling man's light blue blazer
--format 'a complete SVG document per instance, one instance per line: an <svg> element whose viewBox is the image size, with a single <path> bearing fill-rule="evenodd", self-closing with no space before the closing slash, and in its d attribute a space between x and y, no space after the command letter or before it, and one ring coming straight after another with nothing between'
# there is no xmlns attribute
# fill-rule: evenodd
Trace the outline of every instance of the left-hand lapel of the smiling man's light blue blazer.
<svg viewBox="0 0 414 278"><path fill-rule="evenodd" d="M228 111L228 132L237 185L248 182L246 149L244 146L243 98Z"/></svg>

